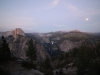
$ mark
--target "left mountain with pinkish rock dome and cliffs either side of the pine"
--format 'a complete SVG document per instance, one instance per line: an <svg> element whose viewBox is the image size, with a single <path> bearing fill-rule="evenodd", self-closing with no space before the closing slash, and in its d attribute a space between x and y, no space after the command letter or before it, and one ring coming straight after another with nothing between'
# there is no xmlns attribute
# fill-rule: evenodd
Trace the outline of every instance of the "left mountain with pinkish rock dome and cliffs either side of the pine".
<svg viewBox="0 0 100 75"><path fill-rule="evenodd" d="M26 37L21 28L16 28L12 31L1 32L0 37L4 35L9 43L12 54L18 58L26 59L26 50L28 49L28 42L30 38ZM42 62L46 57L50 57L41 43L33 40L37 48L38 62Z"/></svg>

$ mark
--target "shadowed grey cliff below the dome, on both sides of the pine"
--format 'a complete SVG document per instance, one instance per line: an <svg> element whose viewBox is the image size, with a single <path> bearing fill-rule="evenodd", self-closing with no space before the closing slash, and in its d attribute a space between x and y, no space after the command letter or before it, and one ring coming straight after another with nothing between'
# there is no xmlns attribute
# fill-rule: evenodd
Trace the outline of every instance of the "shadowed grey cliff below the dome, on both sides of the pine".
<svg viewBox="0 0 100 75"><path fill-rule="evenodd" d="M10 38L11 39L11 38ZM11 42L9 42L9 47L11 52L14 56L18 58L26 59L26 50L28 49L28 41L30 39L24 36L17 35L16 39L12 39ZM33 41L37 48L37 59L38 62L42 62L46 59L48 53L46 52L45 48L42 44L36 43Z"/></svg>

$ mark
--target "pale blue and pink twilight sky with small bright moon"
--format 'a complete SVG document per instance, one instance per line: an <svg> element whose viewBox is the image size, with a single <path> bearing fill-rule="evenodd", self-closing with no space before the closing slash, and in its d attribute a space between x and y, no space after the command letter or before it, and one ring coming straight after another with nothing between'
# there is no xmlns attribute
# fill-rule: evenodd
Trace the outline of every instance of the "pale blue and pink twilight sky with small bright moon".
<svg viewBox="0 0 100 75"><path fill-rule="evenodd" d="M0 0L0 31L100 32L100 0Z"/></svg>

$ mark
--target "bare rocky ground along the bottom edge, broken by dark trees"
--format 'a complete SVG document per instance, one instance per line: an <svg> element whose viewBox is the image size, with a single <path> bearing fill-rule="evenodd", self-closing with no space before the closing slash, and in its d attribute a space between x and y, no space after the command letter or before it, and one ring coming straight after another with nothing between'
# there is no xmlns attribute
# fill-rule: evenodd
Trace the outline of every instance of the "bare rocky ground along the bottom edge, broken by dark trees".
<svg viewBox="0 0 100 75"><path fill-rule="evenodd" d="M69 68L62 68L62 72L64 75L75 75L77 68L76 67L71 67L71 64L68 64L70 67ZM44 73L39 71L39 66L36 69L26 69L21 66L20 62L9 62L3 65L0 65L0 67L5 70L9 71L10 75L44 75ZM53 74L57 75L57 72L60 72L59 69L53 70Z"/></svg>

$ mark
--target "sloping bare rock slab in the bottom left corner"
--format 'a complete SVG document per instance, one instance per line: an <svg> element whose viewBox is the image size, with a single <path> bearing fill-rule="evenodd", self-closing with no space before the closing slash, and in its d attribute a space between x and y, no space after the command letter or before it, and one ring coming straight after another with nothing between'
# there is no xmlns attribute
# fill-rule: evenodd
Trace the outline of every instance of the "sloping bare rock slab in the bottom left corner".
<svg viewBox="0 0 100 75"><path fill-rule="evenodd" d="M39 70L26 69L22 67L21 64L18 64L12 61L10 61L7 64L0 65L0 69L3 69L5 72L8 72L8 73L10 72L10 75L44 75L44 73L40 72ZM2 73L0 73L0 75L1 74Z"/></svg>

